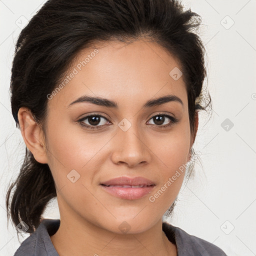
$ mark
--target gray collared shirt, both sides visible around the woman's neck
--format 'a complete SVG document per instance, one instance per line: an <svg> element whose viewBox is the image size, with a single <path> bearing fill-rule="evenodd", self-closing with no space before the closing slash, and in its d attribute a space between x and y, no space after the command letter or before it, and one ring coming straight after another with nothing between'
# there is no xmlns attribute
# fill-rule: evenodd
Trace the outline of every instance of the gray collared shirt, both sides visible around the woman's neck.
<svg viewBox="0 0 256 256"><path fill-rule="evenodd" d="M59 256L50 239L59 224L59 219L43 219L20 244L14 256ZM190 235L179 227L162 222L162 230L169 241L176 244L178 256L227 256L216 245Z"/></svg>

